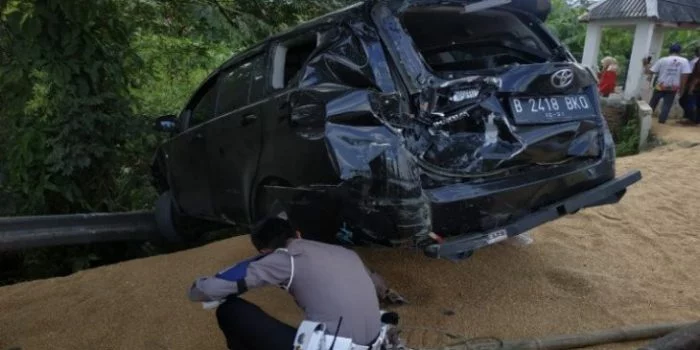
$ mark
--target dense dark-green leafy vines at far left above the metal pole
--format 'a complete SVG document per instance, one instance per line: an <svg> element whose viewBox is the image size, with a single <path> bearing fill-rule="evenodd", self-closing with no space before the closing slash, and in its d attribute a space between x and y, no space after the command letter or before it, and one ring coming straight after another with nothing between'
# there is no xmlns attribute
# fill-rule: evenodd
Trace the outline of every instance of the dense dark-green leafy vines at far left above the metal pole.
<svg viewBox="0 0 700 350"><path fill-rule="evenodd" d="M106 209L131 116L127 72L140 64L118 13L110 1L59 0L13 1L3 11L14 59L0 88L17 100L3 115L14 132L2 161L22 213Z"/></svg>

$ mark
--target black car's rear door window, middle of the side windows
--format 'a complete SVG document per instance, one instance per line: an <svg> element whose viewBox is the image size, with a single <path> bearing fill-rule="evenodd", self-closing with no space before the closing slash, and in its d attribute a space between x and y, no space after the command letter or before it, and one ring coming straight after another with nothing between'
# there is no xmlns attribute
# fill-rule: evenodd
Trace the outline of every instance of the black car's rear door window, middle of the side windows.
<svg viewBox="0 0 700 350"><path fill-rule="evenodd" d="M245 107L264 97L264 72L260 68L264 64L265 55L260 54L222 72L217 116Z"/></svg>

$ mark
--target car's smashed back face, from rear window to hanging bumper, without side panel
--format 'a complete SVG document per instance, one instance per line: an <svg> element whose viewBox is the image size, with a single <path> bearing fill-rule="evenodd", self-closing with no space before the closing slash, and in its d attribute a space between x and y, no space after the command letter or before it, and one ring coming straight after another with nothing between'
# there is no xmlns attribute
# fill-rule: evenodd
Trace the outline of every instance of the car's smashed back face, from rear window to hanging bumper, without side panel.
<svg viewBox="0 0 700 350"><path fill-rule="evenodd" d="M595 78L541 24L542 2L486 4L496 2L412 1L375 13L416 96L412 120L394 123L422 170L433 256L617 202L641 178L615 179Z"/></svg>

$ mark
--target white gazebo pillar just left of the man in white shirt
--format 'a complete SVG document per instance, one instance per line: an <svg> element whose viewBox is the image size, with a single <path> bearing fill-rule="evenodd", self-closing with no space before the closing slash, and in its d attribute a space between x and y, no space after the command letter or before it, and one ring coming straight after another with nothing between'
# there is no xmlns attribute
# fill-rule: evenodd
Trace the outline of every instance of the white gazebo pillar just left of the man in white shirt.
<svg viewBox="0 0 700 350"><path fill-rule="evenodd" d="M627 68L627 81L625 83L624 97L626 99L636 99L640 95L642 81L645 79L642 59L651 53L655 29L656 25L652 21L640 22L634 29L634 44L632 45L630 65Z"/></svg>

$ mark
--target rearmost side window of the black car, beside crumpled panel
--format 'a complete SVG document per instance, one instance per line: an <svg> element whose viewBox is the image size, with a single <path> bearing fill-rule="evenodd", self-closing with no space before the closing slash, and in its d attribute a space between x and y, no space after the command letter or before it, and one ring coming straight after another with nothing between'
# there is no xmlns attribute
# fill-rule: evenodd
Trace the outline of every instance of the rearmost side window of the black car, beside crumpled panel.
<svg viewBox="0 0 700 350"><path fill-rule="evenodd" d="M280 43L272 63L272 87L283 89L289 86L317 44L317 31Z"/></svg>

